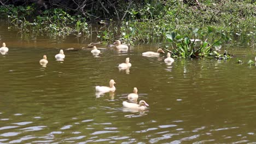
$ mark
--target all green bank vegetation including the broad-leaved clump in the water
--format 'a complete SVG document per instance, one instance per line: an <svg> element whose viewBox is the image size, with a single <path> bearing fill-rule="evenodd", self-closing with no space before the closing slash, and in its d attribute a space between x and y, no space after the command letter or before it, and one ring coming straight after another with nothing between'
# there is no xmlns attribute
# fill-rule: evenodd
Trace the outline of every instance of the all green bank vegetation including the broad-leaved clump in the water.
<svg viewBox="0 0 256 144"><path fill-rule="evenodd" d="M55 37L97 35L105 41L122 39L130 44L164 43L170 46L166 50L172 51L174 57L225 59L229 56L220 55L217 50L223 43L239 42L254 47L254 1L29 2L27 6L0 7L1 16L8 19L10 28ZM91 20L101 25L88 25Z"/></svg>

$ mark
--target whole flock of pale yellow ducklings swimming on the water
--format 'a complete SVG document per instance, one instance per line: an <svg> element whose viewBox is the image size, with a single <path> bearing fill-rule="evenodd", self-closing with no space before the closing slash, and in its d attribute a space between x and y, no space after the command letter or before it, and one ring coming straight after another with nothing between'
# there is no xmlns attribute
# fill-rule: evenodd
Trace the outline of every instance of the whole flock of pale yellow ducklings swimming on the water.
<svg viewBox="0 0 256 144"><path fill-rule="evenodd" d="M114 45L118 51L127 51L129 49L129 47L127 45L121 44L120 40L116 40ZM9 51L8 47L6 47L5 43L3 43L2 47L0 48L0 52L2 54L5 54L8 51ZM101 53L101 51L98 50L97 47L94 45L93 49L91 50L91 53L93 55L99 55ZM142 56L158 57L160 55L160 53L165 53L165 52L162 49L158 49L157 52L152 52L152 51L143 52ZM55 58L57 61L63 61L63 59L65 58L63 50L60 50L60 53L55 55ZM164 61L168 65L170 65L174 62L174 59L171 58L170 52L167 53L167 58L165 58ZM46 66L46 64L48 63L46 55L43 56L43 59L40 59L39 63L41 65L43 65L43 67ZM129 57L126 58L125 63L121 63L118 65L119 69L128 69L130 67L131 67L131 63L130 63ZM114 84L115 84L115 81L110 80L109 87L96 86L95 87L96 93L115 92ZM123 101L123 106L126 107L127 109L132 109L132 110L145 110L147 108L147 106L149 106L149 105L144 100L139 101L139 103L137 104L137 99L138 99L137 93L138 93L138 89L136 87L133 88L133 93L130 93L129 95L127 95L127 99L130 101L129 102Z"/></svg>

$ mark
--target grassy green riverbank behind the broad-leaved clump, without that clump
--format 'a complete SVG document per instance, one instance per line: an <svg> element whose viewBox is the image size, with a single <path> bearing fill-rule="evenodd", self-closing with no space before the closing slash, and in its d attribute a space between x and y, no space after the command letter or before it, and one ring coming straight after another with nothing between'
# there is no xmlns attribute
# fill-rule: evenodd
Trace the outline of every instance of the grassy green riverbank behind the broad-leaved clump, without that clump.
<svg viewBox="0 0 256 144"><path fill-rule="evenodd" d="M98 19L92 18L96 15L94 11L91 13L85 11L87 14L85 15L82 11L74 13L74 10L60 5L48 6L51 9L45 9L38 8L38 3L28 4L30 5L1 5L1 17L7 20L8 28L18 28L21 33L54 35L62 38L69 34L85 38L96 35L103 41L122 39L131 44L163 42L166 40L166 35L172 32L187 37L191 29L208 26L212 31L207 35L208 40L214 41L217 37L225 35L228 38L225 41L254 45L256 33L254 26L256 8L255 3L251 1L215 3L151 1L140 5L130 1L130 3L122 3L124 5L123 9L120 9L122 13L108 14L108 17L102 14ZM116 5L115 8L122 4ZM98 13L101 11L99 10ZM123 21L117 22L120 19ZM96 22L98 26L95 25Z"/></svg>

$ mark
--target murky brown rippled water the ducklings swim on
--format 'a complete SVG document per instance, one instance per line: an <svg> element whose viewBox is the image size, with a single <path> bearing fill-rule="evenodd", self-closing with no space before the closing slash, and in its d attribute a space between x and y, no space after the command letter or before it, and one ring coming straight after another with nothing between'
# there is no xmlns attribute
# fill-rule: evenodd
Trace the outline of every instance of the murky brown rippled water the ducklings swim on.
<svg viewBox="0 0 256 144"><path fill-rule="evenodd" d="M20 39L0 31L9 52L0 55L0 143L255 143L256 67L237 64L254 59L252 48L237 45L237 57L175 59L143 57L156 45L135 45L117 52L104 45L98 57L76 38ZM46 67L39 64L48 56ZM245 56L245 57L244 57ZM130 57L129 71L118 64ZM114 79L114 94L97 95L95 86ZM125 111L133 87L145 111Z"/></svg>

